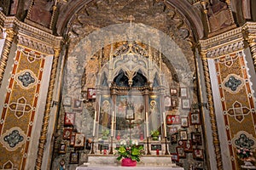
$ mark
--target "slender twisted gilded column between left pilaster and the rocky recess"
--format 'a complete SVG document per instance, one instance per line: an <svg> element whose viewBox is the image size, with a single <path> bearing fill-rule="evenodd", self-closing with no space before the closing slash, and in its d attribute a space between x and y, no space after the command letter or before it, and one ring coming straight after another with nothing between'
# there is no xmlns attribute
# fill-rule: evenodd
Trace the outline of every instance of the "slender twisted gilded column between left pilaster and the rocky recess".
<svg viewBox="0 0 256 170"><path fill-rule="evenodd" d="M44 156L44 147L46 144L47 131L49 126L49 112L50 112L50 106L51 106L52 97L53 97L53 90L55 85L55 77L56 77L60 50L61 48L55 48L55 55L54 55L54 60L53 60L50 80L49 80L49 91L47 94L45 111L44 111L44 120L43 120L42 129L41 129L39 144L38 144L38 156L37 156L36 167L35 167L36 170L40 170L42 166L42 161Z"/></svg>

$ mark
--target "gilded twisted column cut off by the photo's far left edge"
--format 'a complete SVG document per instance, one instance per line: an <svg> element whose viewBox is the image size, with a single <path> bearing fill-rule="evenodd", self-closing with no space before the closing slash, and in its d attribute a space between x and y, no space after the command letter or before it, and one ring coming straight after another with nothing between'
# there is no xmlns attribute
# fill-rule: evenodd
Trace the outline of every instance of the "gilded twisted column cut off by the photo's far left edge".
<svg viewBox="0 0 256 170"><path fill-rule="evenodd" d="M3 45L3 53L0 60L0 88L2 86L3 74L7 65L7 61L9 59L10 48L15 37L15 31L13 31L13 29L6 30L6 33L7 37Z"/></svg>

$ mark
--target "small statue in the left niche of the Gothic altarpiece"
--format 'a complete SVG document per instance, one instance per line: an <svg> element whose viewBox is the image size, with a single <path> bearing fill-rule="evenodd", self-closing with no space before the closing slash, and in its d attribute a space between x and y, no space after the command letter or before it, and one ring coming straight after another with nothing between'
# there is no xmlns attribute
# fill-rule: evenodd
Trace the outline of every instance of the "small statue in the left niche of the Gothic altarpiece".
<svg viewBox="0 0 256 170"><path fill-rule="evenodd" d="M110 111L110 103L106 99L102 102L102 107L101 107L100 124L102 125L102 127L110 127L110 125L109 125L109 123L110 123L109 122L109 120L110 120L109 111Z"/></svg>

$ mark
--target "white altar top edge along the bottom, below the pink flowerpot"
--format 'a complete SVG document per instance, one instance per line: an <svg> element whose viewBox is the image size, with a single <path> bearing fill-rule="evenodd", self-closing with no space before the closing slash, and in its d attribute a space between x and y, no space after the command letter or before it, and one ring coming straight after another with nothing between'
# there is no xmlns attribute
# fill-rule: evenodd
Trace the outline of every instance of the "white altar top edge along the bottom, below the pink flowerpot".
<svg viewBox="0 0 256 170"><path fill-rule="evenodd" d="M111 165L89 165L87 166L80 166L77 167L76 170L121 170L121 169L137 169L137 170L143 170L143 169L147 169L147 170L184 170L183 167L154 167L154 166L142 166L142 165L137 165L136 167L123 167L123 166L111 166Z"/></svg>

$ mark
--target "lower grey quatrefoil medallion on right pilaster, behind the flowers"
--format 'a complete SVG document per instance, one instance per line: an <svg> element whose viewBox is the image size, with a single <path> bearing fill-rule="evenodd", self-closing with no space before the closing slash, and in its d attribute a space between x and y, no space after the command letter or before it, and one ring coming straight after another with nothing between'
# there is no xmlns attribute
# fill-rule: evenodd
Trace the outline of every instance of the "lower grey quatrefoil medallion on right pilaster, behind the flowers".
<svg viewBox="0 0 256 170"><path fill-rule="evenodd" d="M252 134L246 131L240 131L236 133L235 138L232 139L232 144L235 145L236 148L253 149L256 147L256 139L253 138Z"/></svg>

